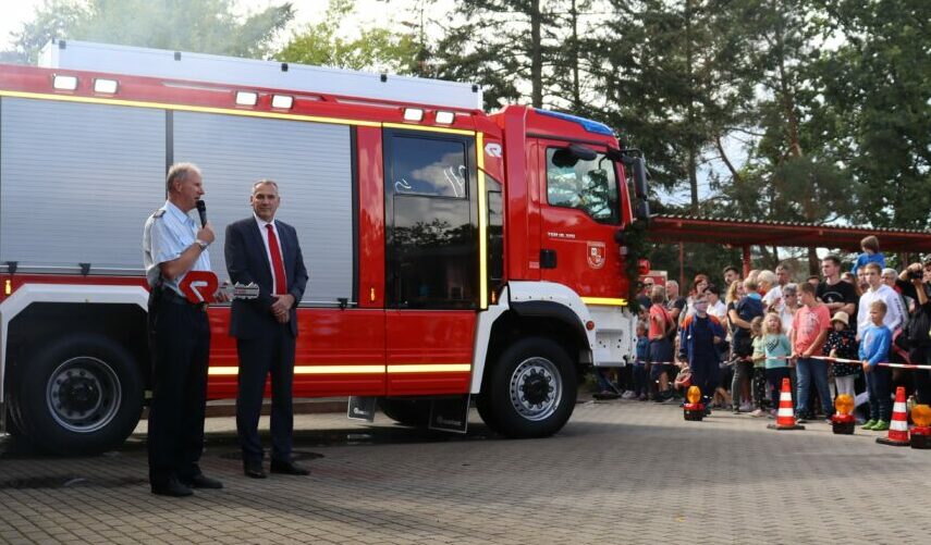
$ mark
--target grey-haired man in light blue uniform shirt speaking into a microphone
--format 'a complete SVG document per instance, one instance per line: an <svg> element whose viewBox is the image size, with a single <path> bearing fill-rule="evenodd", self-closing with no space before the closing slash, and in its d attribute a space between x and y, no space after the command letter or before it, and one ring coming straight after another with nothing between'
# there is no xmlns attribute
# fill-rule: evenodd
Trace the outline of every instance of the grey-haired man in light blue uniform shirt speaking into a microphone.
<svg viewBox="0 0 931 545"><path fill-rule="evenodd" d="M194 488L222 488L200 471L210 325L206 306L189 302L180 283L188 271L209 271L210 224L197 228L188 215L204 195L200 171L191 163L171 166L168 200L146 221L143 261L149 295L152 399L148 455L152 494L189 496Z"/></svg>

